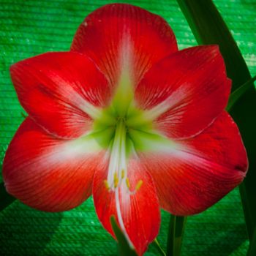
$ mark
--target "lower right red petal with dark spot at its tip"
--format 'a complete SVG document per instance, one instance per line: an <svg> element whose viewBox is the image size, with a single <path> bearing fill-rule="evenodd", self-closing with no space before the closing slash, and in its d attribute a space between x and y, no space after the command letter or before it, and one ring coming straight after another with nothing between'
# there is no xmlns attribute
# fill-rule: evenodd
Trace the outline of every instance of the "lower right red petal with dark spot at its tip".
<svg viewBox="0 0 256 256"><path fill-rule="evenodd" d="M140 156L154 178L160 205L172 214L204 211L246 175L246 151L225 112L200 135L179 141L179 146L169 153Z"/></svg>

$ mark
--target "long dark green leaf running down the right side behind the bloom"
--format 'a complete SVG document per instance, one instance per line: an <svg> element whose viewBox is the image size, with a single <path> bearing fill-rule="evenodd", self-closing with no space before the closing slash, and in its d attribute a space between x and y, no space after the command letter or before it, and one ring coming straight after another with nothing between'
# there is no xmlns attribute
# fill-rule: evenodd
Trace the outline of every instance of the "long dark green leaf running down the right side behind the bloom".
<svg viewBox="0 0 256 256"><path fill-rule="evenodd" d="M227 75L233 80L233 91L251 79L248 67L230 31L211 0L177 0L199 44L217 44L225 59ZM240 186L247 232L252 240L256 227L256 92L249 88L230 111L240 129L249 158L249 171Z"/></svg>

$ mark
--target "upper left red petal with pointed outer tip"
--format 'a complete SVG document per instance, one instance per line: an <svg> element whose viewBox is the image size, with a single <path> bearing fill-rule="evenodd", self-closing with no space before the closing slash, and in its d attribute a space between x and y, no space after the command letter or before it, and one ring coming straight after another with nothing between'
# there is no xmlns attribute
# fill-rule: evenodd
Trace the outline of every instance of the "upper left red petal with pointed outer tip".
<svg viewBox="0 0 256 256"><path fill-rule="evenodd" d="M76 138L90 129L88 103L108 104L107 80L79 53L45 53L12 65L10 72L29 116L59 137Z"/></svg>

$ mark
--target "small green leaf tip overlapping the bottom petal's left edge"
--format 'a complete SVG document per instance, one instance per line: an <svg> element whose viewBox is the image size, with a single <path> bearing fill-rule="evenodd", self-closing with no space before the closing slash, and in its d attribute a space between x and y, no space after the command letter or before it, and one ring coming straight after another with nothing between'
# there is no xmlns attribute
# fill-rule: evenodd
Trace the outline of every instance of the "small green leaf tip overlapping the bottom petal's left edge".
<svg viewBox="0 0 256 256"><path fill-rule="evenodd" d="M116 223L115 217L110 217L110 222L113 228L113 231L116 235L116 239L118 241L118 255L121 256L137 256L137 253L134 249L129 246L129 242L127 238L124 236L124 233L120 230Z"/></svg>

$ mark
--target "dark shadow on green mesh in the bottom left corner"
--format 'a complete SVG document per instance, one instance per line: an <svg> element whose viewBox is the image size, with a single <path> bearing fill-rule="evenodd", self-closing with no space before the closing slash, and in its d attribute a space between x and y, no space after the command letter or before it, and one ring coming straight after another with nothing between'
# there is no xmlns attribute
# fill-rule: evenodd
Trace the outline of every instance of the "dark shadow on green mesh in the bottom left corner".
<svg viewBox="0 0 256 256"><path fill-rule="evenodd" d="M1 255L40 255L61 218L60 213L37 211L16 200L0 212Z"/></svg>

